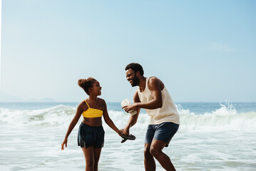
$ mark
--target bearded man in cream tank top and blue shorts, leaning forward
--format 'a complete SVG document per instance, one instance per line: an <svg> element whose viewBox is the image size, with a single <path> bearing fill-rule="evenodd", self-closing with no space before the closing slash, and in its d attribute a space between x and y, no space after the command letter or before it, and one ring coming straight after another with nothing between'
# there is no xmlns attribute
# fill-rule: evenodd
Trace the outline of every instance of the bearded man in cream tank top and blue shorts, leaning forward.
<svg viewBox="0 0 256 171"><path fill-rule="evenodd" d="M133 104L123 106L123 109L137 110L136 115L130 115L121 134L129 134L129 129L138 120L140 108L145 108L150 115L148 130L145 135L144 166L146 171L155 170L155 160L165 170L175 170L168 155L163 153L163 147L168 147L170 140L178 130L180 118L170 93L160 79L156 77L145 78L142 66L130 63L126 66L126 78L131 86L138 86L133 96Z"/></svg>

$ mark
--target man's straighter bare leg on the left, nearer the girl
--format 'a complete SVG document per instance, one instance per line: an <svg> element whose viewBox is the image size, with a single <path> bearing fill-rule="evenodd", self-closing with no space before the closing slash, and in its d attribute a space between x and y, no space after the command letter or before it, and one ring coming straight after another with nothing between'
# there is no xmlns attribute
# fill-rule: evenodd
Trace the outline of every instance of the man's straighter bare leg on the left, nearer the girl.
<svg viewBox="0 0 256 171"><path fill-rule="evenodd" d="M145 171L155 171L155 160L150 153L150 143L145 143L144 148L144 166Z"/></svg>

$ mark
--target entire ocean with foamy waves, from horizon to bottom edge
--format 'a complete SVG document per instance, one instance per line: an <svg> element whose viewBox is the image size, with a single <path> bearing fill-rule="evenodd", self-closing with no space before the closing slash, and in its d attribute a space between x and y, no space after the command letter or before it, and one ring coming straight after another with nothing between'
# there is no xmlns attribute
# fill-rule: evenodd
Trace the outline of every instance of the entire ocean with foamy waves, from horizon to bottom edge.
<svg viewBox="0 0 256 171"><path fill-rule="evenodd" d="M0 170L84 170L77 146L78 121L61 143L78 103L0 103ZM107 103L108 114L118 128L130 114L120 103ZM163 151L176 170L256 170L256 103L175 103L180 128ZM82 118L81 118L82 119ZM149 116L141 110L130 133L136 140L121 144L103 121L106 132L98 170L141 171ZM163 170L158 161L157 169Z"/></svg>

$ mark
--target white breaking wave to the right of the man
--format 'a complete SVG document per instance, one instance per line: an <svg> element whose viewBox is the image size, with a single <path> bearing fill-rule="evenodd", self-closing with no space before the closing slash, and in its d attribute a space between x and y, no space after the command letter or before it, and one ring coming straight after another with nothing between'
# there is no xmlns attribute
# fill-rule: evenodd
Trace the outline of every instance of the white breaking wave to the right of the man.
<svg viewBox="0 0 256 171"><path fill-rule="evenodd" d="M237 113L232 104L222 105L211 113L196 115L178 106L180 130L200 132L242 131L255 132L256 112Z"/></svg>

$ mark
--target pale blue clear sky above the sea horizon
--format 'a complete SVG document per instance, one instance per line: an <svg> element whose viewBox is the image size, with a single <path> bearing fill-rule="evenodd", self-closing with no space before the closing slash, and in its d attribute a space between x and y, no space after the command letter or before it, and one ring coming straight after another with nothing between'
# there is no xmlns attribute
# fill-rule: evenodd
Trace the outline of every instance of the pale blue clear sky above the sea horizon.
<svg viewBox="0 0 256 171"><path fill-rule="evenodd" d="M175 102L256 102L255 1L2 0L1 91L80 101L133 98L124 68L140 63Z"/></svg>

